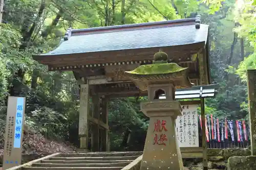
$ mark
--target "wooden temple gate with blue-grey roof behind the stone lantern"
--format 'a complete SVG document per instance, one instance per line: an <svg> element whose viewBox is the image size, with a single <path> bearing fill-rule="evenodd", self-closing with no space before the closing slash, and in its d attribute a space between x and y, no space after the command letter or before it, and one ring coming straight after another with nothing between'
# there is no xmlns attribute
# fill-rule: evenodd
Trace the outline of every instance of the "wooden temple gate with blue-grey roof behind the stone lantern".
<svg viewBox="0 0 256 170"><path fill-rule="evenodd" d="M181 102L181 105L201 104L205 132L204 98L213 97L216 86L209 85L208 26L200 22L197 16L132 25L70 28L55 50L34 56L39 63L48 65L49 71L73 71L79 82L81 150L109 151L109 100L147 95L147 91L141 91L124 71L152 64L159 48L168 55L167 62L188 67L188 78L194 86L176 89L175 99L201 99ZM202 143L200 148L181 148L181 153L204 155L204 166L207 166L205 133Z"/></svg>

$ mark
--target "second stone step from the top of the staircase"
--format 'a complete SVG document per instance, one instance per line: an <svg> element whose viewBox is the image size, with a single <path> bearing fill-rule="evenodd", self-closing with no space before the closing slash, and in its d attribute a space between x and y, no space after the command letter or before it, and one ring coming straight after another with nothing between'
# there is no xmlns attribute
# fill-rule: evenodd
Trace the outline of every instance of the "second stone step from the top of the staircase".
<svg viewBox="0 0 256 170"><path fill-rule="evenodd" d="M52 157L50 160L135 160L138 156L111 157Z"/></svg>

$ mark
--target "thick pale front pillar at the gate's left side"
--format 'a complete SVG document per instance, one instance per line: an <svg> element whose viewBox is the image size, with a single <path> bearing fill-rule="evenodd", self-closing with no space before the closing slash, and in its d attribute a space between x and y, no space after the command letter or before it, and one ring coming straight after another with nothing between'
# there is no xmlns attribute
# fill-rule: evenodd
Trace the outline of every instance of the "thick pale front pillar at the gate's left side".
<svg viewBox="0 0 256 170"><path fill-rule="evenodd" d="M89 85L80 85L79 130L80 149L88 149Z"/></svg>

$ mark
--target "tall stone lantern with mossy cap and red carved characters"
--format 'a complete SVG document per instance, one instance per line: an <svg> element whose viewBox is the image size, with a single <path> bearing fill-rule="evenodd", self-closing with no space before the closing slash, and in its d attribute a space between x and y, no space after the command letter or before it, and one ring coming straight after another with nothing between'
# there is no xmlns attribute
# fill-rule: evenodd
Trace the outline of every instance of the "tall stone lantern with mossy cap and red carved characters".
<svg viewBox="0 0 256 170"><path fill-rule="evenodd" d="M141 65L125 74L140 90L148 91L148 101L142 102L141 111L150 117L140 170L184 169L176 138L175 120L182 116L175 88L189 88L187 72L176 63L167 63L167 54L158 52L153 64ZM160 99L161 96L164 99Z"/></svg>

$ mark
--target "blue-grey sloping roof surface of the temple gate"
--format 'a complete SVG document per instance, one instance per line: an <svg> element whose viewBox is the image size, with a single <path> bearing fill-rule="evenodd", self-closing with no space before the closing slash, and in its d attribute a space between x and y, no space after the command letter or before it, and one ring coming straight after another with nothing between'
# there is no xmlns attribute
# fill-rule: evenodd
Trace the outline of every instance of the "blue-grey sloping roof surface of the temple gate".
<svg viewBox="0 0 256 170"><path fill-rule="evenodd" d="M189 21L191 22L191 19ZM147 23L147 25L150 24ZM131 27L131 25L126 26L126 28L128 28L128 26ZM71 36L68 40L62 39L55 50L42 55L62 55L185 45L206 42L208 36L208 26L200 24L200 28L196 29L195 18L194 23L191 23L191 25L165 25L156 27L156 24L154 24L154 27L141 26L142 24L140 24L138 28L134 27L134 29L122 30L118 30L118 27L125 28L124 26L113 26L113 31L111 27L81 29L80 32L83 33L86 33L87 30L90 31L89 34L86 33L83 35L77 35L79 30L71 30ZM94 32L93 30L96 31ZM98 33L98 30L102 31ZM73 33L75 36L72 35Z"/></svg>

